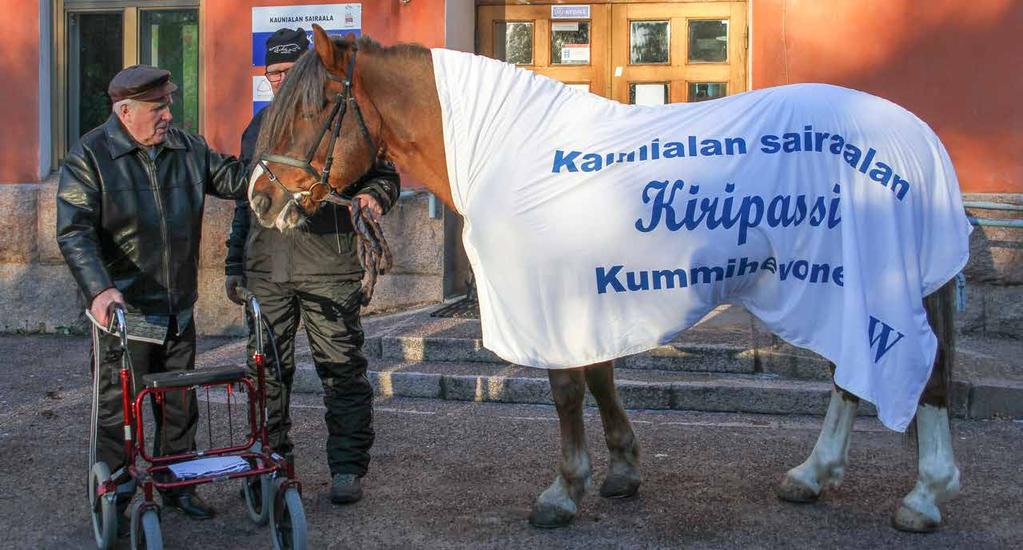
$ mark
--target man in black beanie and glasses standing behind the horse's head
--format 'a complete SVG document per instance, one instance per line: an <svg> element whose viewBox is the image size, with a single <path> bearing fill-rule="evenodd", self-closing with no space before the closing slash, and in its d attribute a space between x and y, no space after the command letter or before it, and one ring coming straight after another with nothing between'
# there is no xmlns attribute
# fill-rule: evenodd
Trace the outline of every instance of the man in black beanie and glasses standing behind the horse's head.
<svg viewBox="0 0 1023 550"><path fill-rule="evenodd" d="M309 38L302 29L280 29L267 39L266 78L274 93L285 85L288 71L308 48ZM249 170L266 110L256 113L241 135L240 157ZM394 205L401 190L394 167L383 161L352 187L354 197L349 198L361 201L377 218ZM292 451L288 403L301 319L323 384L330 500L336 504L359 500L373 443L372 386L366 378L359 319L363 269L348 209L323 204L302 228L282 233L256 223L249 201L238 200L225 272L227 297L240 304L239 286L256 294L280 352L283 383L271 376L267 384L270 445L280 453ZM250 357L256 345L254 330L250 325ZM252 363L250 369L255 373Z"/></svg>

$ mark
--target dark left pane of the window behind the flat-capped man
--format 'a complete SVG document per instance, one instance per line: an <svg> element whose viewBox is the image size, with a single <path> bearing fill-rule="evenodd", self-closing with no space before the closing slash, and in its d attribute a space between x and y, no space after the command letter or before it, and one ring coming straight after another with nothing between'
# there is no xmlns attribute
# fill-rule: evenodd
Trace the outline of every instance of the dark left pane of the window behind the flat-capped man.
<svg viewBox="0 0 1023 550"><path fill-rule="evenodd" d="M124 64L121 13L69 13L68 143L110 116L106 87Z"/></svg>

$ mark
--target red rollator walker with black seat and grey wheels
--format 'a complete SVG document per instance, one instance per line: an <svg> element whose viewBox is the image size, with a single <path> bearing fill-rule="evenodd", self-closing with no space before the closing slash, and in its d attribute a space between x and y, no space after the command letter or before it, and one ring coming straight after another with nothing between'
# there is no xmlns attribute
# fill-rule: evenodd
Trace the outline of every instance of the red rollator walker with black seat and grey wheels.
<svg viewBox="0 0 1023 550"><path fill-rule="evenodd" d="M147 374L137 380L128 351L128 326L124 308L112 307L110 334L121 345L121 403L124 410L124 436L126 466L116 472L122 486L141 487L142 498L131 505L131 548L157 550L164 547L160 530L161 506L153 499L155 491L182 490L184 488L240 479L249 518L256 524L270 523L270 536L275 550L305 549L307 526L302 506L302 485L296 477L291 456L283 457L270 447L267 436L267 362L266 346L272 352L274 375L280 379L280 362L277 346L269 324L263 319L259 302L248 289L239 289L246 302L246 311L255 323L256 382L247 376L242 366L205 368L191 371ZM99 328L92 325L93 341L98 342ZM265 334L264 334L265 331ZM89 447L89 509L92 514L96 547L104 550L115 545L118 538L118 479L105 462L96 459L96 438L99 413L99 376L110 375L99 369L101 358L93 353L92 425ZM140 388L140 389L139 389ZM145 450L143 403L150 403L163 410L165 396L172 392L203 388L207 394L207 421L210 430L210 448L172 456L152 456ZM220 388L226 394L228 409L228 443L225 447L213 446L213 420L210 389ZM139 389L137 393L135 389ZM236 394L244 394L244 404ZM132 396L135 396L132 399ZM234 425L231 420L232 400L247 409L249 432L241 443L234 444ZM240 427L240 426L239 426ZM219 441L218 443L223 443ZM155 454L157 450L153 450ZM234 458L234 460L232 460ZM230 467L225 467L230 464ZM187 472L179 475L178 473ZM129 478L125 482L124 479Z"/></svg>

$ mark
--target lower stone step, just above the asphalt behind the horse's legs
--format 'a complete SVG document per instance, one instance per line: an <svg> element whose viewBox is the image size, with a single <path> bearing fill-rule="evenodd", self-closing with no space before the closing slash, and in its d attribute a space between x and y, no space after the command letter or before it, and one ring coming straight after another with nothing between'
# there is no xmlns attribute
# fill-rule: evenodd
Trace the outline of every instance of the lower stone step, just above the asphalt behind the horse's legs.
<svg viewBox="0 0 1023 550"><path fill-rule="evenodd" d="M519 404L552 404L543 369L485 362L370 360L369 378L380 397L410 397ZM765 374L616 369L627 409L671 409L764 414L827 411L831 384ZM300 362L295 392L322 392L316 370ZM587 404L594 405L587 393ZM864 404L860 414L876 414Z"/></svg>

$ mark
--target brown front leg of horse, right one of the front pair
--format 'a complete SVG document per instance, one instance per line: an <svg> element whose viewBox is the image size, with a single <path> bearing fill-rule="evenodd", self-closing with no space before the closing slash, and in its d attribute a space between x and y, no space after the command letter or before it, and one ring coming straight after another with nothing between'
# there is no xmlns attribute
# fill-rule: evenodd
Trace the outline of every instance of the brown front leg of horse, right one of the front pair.
<svg viewBox="0 0 1023 550"><path fill-rule="evenodd" d="M585 368L586 385L596 399L608 443L608 475L601 486L601 496L628 498L639 491L639 444L615 388L615 368L611 361Z"/></svg>

